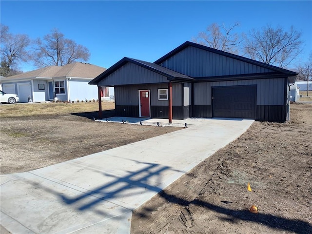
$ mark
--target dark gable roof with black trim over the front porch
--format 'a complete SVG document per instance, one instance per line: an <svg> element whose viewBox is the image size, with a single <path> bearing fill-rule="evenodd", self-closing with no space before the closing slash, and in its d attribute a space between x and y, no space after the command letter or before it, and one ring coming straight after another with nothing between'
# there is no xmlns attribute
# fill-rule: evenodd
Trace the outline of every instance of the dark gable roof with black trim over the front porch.
<svg viewBox="0 0 312 234"><path fill-rule="evenodd" d="M144 67L150 71L156 72L160 75L163 75L165 77L168 77L170 80L174 79L183 79L183 80L194 80L194 78L188 77L186 75L183 75L181 73L175 72L173 70L170 70L166 67L160 66L156 63L152 62L146 62L143 60L138 60L138 59L131 59L128 57L124 57L123 59L119 60L117 63L115 63L113 66L108 68L105 72L102 74L98 75L98 77L94 78L89 82L89 84L97 84L100 80L103 78L109 76L113 72L115 72L117 69L125 65L126 63L131 62L134 64L137 64L138 66Z"/></svg>

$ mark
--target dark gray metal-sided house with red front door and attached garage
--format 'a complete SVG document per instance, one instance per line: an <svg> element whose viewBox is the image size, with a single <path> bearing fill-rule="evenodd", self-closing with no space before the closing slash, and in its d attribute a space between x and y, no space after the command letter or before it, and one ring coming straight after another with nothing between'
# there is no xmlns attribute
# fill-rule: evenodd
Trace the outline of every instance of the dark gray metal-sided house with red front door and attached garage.
<svg viewBox="0 0 312 234"><path fill-rule="evenodd" d="M89 84L115 86L120 117L284 122L297 75L186 41L153 63L125 57Z"/></svg>

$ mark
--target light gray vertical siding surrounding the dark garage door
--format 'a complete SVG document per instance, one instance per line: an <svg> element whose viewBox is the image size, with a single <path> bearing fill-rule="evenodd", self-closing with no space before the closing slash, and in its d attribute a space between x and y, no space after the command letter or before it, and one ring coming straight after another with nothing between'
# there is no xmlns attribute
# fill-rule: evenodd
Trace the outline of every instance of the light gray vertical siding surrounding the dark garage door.
<svg viewBox="0 0 312 234"><path fill-rule="evenodd" d="M285 105L285 78L195 83L195 105L211 105L211 87L257 85L257 105Z"/></svg>

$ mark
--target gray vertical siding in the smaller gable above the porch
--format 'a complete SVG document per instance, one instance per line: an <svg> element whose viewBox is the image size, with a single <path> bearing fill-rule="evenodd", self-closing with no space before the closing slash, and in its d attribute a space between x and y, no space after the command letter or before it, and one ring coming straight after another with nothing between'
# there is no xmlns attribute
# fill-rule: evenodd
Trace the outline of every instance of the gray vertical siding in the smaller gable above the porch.
<svg viewBox="0 0 312 234"><path fill-rule="evenodd" d="M137 64L128 62L98 82L98 86L165 83L168 78Z"/></svg>

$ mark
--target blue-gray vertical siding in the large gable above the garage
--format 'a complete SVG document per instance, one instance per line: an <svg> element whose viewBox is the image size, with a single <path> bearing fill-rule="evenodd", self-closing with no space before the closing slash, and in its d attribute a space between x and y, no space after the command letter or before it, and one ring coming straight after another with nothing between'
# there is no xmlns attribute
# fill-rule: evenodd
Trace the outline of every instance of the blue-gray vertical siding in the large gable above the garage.
<svg viewBox="0 0 312 234"><path fill-rule="evenodd" d="M159 65L194 78L273 72L268 68L192 46Z"/></svg>

